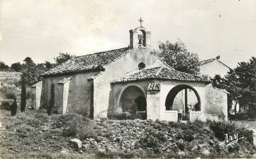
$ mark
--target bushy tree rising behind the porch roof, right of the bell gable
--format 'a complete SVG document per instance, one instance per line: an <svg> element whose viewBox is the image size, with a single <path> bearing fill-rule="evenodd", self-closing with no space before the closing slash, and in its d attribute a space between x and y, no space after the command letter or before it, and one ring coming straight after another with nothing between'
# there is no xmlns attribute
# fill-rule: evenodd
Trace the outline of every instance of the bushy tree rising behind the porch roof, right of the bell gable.
<svg viewBox="0 0 256 159"><path fill-rule="evenodd" d="M166 43L159 42L159 51L154 50L153 53L159 55L161 59L175 70L194 75L199 74L198 55L188 52L185 44L180 39L174 44L169 41L166 41Z"/></svg>

